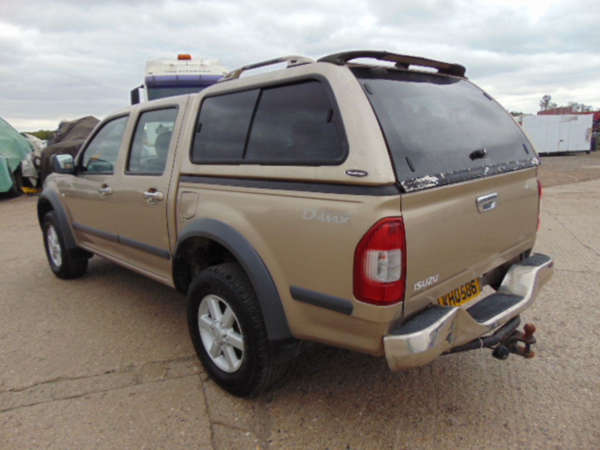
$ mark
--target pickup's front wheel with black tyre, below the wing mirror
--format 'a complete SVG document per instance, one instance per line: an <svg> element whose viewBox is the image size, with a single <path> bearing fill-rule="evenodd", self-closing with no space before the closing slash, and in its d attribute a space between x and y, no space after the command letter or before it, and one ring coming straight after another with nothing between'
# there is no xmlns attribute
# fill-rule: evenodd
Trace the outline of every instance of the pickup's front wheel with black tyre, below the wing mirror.
<svg viewBox="0 0 600 450"><path fill-rule="evenodd" d="M44 235L44 248L52 272L58 278L76 278L85 274L88 269L87 259L73 259L65 248L65 239L54 211L44 215L42 226Z"/></svg>

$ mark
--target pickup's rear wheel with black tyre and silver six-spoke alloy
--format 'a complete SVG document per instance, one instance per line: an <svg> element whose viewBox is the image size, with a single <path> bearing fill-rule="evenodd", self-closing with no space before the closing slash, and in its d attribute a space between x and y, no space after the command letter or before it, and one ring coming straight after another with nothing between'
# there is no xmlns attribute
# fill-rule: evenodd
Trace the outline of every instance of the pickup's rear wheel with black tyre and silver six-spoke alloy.
<svg viewBox="0 0 600 450"><path fill-rule="evenodd" d="M206 371L233 395L259 394L284 371L269 353L258 299L238 263L212 266L194 278L188 325Z"/></svg>

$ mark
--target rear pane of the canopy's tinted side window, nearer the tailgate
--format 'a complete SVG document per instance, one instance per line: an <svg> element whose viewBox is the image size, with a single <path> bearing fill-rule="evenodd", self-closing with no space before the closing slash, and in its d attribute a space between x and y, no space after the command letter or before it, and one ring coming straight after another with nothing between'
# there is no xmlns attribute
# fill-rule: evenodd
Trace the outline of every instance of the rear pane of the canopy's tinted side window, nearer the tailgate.
<svg viewBox="0 0 600 450"><path fill-rule="evenodd" d="M326 163L343 156L337 118L317 81L265 89L248 140L246 160Z"/></svg>

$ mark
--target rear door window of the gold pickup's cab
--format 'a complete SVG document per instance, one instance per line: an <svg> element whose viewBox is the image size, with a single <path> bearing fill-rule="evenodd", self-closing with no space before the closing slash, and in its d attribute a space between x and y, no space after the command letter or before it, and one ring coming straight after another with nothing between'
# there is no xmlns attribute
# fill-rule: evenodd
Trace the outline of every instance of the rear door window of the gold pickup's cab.
<svg viewBox="0 0 600 450"><path fill-rule="evenodd" d="M128 173L163 173L176 118L177 108L146 111L140 115L127 161Z"/></svg>

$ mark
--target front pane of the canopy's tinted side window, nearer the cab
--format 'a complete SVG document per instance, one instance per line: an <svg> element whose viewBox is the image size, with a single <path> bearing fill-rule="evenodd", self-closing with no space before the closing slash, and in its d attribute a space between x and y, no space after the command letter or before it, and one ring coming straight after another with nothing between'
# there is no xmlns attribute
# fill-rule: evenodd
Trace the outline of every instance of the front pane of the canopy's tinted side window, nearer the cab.
<svg viewBox="0 0 600 450"><path fill-rule="evenodd" d="M208 97L202 102L192 149L194 161L241 160L259 90Z"/></svg>

